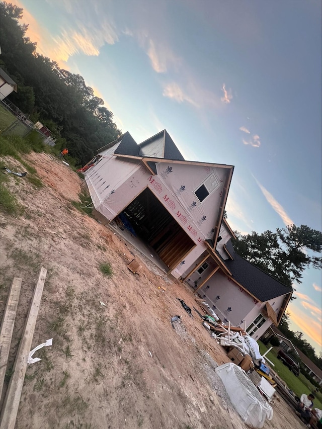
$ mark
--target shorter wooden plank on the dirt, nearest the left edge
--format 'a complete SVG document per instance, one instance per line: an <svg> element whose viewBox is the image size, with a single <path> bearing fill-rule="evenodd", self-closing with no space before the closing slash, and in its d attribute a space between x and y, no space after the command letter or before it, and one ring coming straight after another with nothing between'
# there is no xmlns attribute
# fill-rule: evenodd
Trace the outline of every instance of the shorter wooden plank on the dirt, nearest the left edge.
<svg viewBox="0 0 322 429"><path fill-rule="evenodd" d="M12 334L21 290L22 279L14 277L10 286L5 313L0 328L0 398L4 387Z"/></svg>

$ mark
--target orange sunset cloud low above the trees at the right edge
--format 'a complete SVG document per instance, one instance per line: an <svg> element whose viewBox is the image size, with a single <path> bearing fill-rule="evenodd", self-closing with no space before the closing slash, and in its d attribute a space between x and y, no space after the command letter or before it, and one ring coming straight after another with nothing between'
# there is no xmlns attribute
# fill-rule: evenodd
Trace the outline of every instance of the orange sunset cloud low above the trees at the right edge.
<svg viewBox="0 0 322 429"><path fill-rule="evenodd" d="M287 310L290 313L291 322L297 326L298 330L313 340L319 347L322 347L321 323L316 320L317 317L307 315L298 307L295 307L294 303L291 303Z"/></svg>

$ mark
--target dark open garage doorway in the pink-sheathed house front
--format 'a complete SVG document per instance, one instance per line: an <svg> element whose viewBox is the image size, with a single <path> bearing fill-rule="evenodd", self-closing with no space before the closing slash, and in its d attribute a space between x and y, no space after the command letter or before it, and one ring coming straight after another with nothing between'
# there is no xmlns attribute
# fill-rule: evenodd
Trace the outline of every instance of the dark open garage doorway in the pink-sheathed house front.
<svg viewBox="0 0 322 429"><path fill-rule="evenodd" d="M123 210L122 215L170 271L195 247L194 241L148 188Z"/></svg>

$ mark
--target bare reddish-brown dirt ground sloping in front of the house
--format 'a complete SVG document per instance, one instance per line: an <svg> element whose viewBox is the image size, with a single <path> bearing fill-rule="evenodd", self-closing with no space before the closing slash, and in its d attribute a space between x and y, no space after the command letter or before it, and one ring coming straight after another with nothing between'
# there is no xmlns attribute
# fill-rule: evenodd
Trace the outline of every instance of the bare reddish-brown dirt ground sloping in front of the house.
<svg viewBox="0 0 322 429"><path fill-rule="evenodd" d="M23 279L9 373L41 266L48 273L33 347L51 337L53 345L28 365L16 428L246 428L214 372L230 362L225 350L176 299L193 308L193 293L73 207L82 180L67 166L45 153L26 160L44 186L12 176L26 209L0 217L0 316L13 277ZM127 268L133 257L138 275ZM173 329L176 314L182 322ZM304 427L282 399L273 410L265 429Z"/></svg>

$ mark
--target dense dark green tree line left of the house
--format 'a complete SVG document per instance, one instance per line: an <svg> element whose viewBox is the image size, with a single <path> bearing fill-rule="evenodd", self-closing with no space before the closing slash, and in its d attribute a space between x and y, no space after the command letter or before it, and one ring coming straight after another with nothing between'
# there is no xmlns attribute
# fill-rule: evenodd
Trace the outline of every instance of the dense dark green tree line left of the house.
<svg viewBox="0 0 322 429"><path fill-rule="evenodd" d="M18 84L18 93L9 99L33 122L47 126L59 148L67 146L69 154L85 164L121 131L83 76L36 51L36 43L26 36L28 25L20 23L22 16L23 9L0 3L0 67Z"/></svg>

